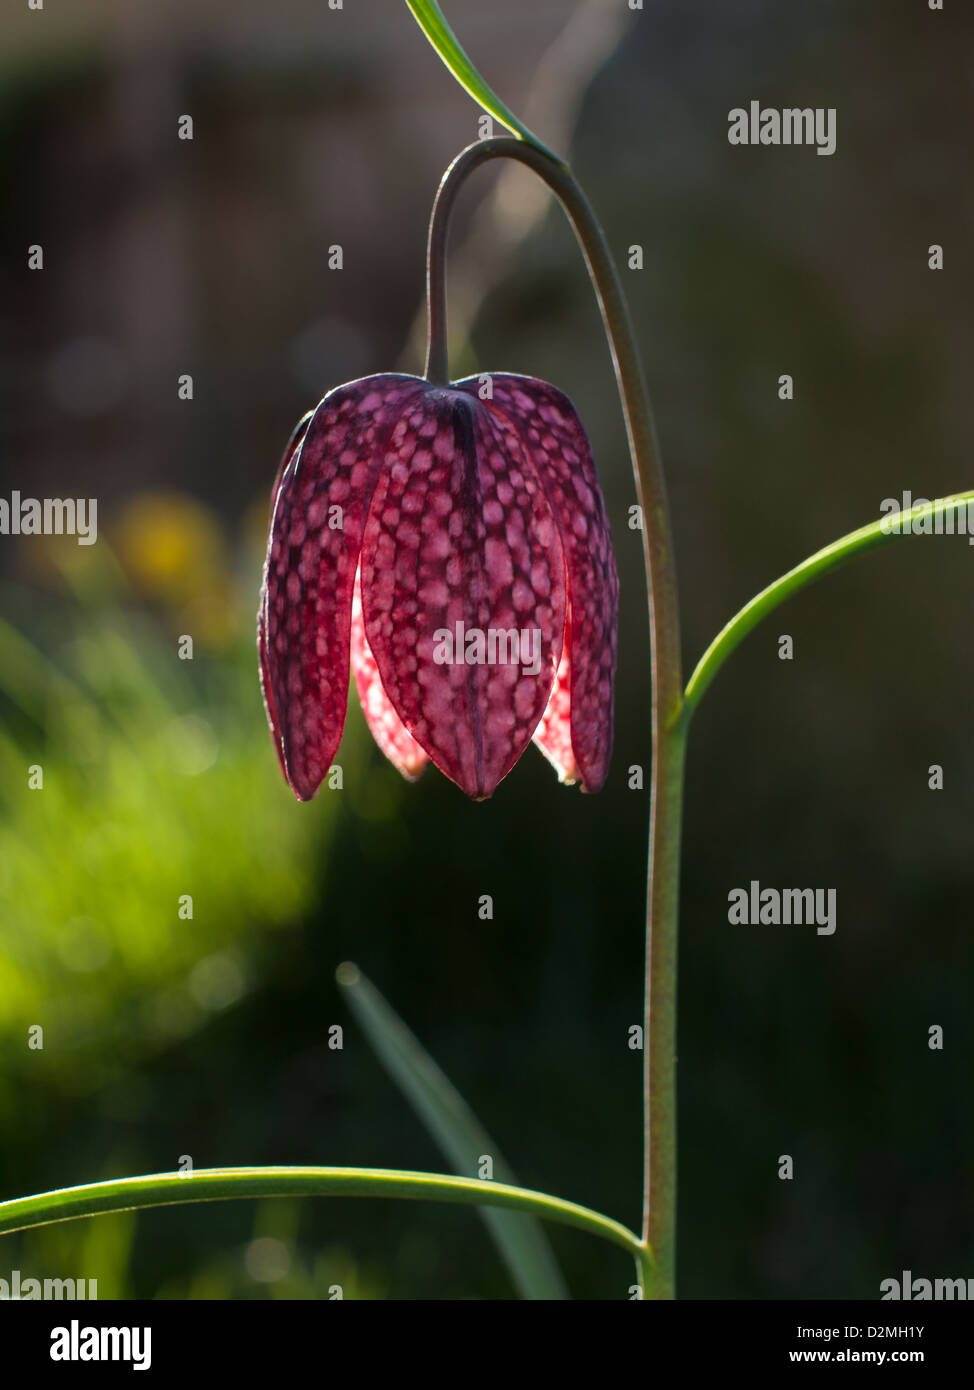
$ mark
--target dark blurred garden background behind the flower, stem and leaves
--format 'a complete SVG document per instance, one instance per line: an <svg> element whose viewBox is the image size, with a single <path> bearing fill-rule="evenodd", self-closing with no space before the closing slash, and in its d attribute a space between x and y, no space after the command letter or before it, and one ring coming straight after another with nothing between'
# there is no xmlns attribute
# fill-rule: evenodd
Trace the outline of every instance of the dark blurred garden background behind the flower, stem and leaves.
<svg viewBox="0 0 974 1390"><path fill-rule="evenodd" d="M446 13L570 153L624 267L688 670L884 498L974 485L974 13ZM410 788L353 701L345 790L297 806L253 642L268 488L328 388L421 370L425 220L481 113L393 0L21 6L1 51L0 496L96 496L99 543L0 538L0 1195L181 1155L440 1169L338 997L352 958L524 1183L638 1222L647 794L627 773L650 756L646 609L614 384L563 218L520 170L464 193L453 363L556 382L592 436L622 581L610 783L579 796L531 751L488 805L435 770ZM835 107L836 153L729 146L750 99ZM971 564L960 538L856 562L759 628L696 719L682 1297L974 1276ZM729 926L728 891L752 878L835 888L835 935ZM627 1295L620 1251L550 1236L577 1297ZM8 1238L0 1275L15 1268L97 1277L101 1297L511 1294L471 1211L399 1202L106 1218Z"/></svg>

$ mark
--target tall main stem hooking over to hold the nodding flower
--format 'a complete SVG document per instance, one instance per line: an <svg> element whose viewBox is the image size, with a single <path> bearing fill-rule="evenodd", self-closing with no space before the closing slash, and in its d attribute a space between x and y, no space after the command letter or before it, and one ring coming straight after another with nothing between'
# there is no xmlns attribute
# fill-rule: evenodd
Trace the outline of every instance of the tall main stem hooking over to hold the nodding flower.
<svg viewBox="0 0 974 1390"><path fill-rule="evenodd" d="M685 721L677 575L666 484L639 350L606 238L571 171L520 140L479 140L463 150L443 175L429 221L427 379L436 385L447 385L450 379L446 341L446 239L450 213L467 175L493 158L517 160L543 179L578 238L602 310L642 507L653 682L643 1026L643 1241L652 1251L653 1262L652 1269L643 1264L647 1280L643 1291L645 1297L671 1298L675 1268L677 937Z"/></svg>

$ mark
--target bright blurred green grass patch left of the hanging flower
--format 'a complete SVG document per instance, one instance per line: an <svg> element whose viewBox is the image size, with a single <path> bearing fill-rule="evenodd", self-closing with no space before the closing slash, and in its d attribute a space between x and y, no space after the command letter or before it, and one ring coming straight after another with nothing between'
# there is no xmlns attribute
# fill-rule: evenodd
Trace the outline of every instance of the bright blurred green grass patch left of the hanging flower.
<svg viewBox="0 0 974 1390"><path fill-rule="evenodd" d="M256 596L183 660L185 613L147 605L107 546L61 577L60 592L0 592L19 617L0 619L7 1119L25 1084L89 1091L103 1058L136 1063L240 999L263 937L308 906L331 819L283 792ZM38 1024L43 1049L28 1047Z"/></svg>

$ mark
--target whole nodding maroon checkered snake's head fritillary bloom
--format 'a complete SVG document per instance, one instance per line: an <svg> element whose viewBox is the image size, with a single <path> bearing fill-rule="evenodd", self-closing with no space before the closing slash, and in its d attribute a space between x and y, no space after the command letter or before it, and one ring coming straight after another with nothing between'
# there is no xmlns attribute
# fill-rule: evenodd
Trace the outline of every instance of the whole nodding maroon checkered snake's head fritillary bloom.
<svg viewBox="0 0 974 1390"><path fill-rule="evenodd" d="M534 739L599 791L613 738L618 578L571 402L531 377L336 386L290 438L258 617L283 774L317 792L349 669L382 752L492 795Z"/></svg>

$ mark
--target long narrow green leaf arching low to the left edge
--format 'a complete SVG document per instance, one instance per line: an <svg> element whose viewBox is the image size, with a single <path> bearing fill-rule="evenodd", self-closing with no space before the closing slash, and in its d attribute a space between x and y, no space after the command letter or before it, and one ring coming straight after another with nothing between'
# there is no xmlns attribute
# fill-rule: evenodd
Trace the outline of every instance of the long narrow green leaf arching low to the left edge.
<svg viewBox="0 0 974 1390"><path fill-rule="evenodd" d="M635 1232L600 1212L547 1193L475 1177L400 1173L381 1168L200 1168L190 1176L150 1173L83 1187L63 1187L0 1202L0 1234L81 1216L175 1207L242 1197L399 1197L468 1205L506 1207L600 1236L638 1261Z"/></svg>

